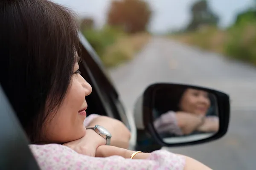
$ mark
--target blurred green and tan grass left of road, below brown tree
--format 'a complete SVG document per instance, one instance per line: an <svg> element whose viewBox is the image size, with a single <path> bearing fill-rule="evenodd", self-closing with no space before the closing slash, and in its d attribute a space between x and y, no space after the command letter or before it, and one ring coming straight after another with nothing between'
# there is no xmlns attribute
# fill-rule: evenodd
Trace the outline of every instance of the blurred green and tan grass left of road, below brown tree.
<svg viewBox="0 0 256 170"><path fill-rule="evenodd" d="M121 28L104 26L102 29L82 30L106 67L114 67L134 57L148 42L147 33L127 34Z"/></svg>

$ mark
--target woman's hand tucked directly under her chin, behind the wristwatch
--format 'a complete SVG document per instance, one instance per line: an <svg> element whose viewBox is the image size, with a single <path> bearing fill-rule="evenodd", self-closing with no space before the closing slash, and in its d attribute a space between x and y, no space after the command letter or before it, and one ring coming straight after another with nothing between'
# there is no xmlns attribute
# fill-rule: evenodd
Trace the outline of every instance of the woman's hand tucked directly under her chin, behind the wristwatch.
<svg viewBox="0 0 256 170"><path fill-rule="evenodd" d="M106 139L99 136L94 130L86 130L86 135L81 139L67 142L63 145L70 147L77 153L94 157L97 147L105 144Z"/></svg>

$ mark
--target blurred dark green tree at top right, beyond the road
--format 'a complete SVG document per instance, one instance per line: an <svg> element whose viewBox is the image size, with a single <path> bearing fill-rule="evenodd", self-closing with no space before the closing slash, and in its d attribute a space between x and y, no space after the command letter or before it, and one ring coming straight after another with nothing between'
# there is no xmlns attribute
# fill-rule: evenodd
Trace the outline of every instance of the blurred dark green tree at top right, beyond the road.
<svg viewBox="0 0 256 170"><path fill-rule="evenodd" d="M207 0L196 1L191 7L191 21L186 31L195 31L201 26L217 26L219 17L209 8Z"/></svg>

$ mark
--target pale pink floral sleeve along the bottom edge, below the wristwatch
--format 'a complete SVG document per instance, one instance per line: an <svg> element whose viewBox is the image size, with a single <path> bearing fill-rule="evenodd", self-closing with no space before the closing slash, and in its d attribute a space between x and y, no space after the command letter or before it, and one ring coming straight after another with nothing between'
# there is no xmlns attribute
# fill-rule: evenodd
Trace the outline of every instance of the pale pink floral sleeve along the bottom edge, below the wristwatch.
<svg viewBox="0 0 256 170"><path fill-rule="evenodd" d="M29 147L42 170L183 170L185 166L185 157L166 150L154 151L148 159L125 159L85 156L59 144Z"/></svg>

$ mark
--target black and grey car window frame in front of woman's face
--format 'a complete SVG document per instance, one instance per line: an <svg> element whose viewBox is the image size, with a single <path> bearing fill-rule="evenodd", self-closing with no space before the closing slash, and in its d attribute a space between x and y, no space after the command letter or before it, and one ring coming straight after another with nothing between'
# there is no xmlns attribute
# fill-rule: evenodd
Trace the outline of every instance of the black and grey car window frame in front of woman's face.
<svg viewBox="0 0 256 170"><path fill-rule="evenodd" d="M84 78L90 79L93 91L96 91L96 98L99 99L97 102L104 109L105 114L102 115L122 121L131 130L131 122L107 69L81 31L79 31L79 39L81 46L80 58L82 59L79 65L80 71L82 76L83 73L88 75Z"/></svg>

